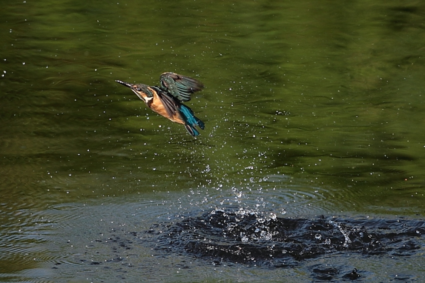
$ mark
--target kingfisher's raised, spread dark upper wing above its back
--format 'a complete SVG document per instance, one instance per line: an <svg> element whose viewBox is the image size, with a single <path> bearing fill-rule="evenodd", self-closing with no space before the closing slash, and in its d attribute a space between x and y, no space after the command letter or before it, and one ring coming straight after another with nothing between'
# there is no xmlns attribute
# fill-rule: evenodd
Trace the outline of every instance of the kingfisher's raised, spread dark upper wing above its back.
<svg viewBox="0 0 425 283"><path fill-rule="evenodd" d="M164 72L159 77L161 86L179 101L189 101L190 94L203 88L197 79L173 72Z"/></svg>

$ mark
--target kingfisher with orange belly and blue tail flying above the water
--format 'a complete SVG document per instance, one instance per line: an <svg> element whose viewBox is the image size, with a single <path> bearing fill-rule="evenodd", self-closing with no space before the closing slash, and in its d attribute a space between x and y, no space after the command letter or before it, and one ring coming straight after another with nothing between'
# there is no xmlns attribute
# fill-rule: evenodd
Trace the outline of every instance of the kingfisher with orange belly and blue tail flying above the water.
<svg viewBox="0 0 425 283"><path fill-rule="evenodd" d="M204 123L195 117L192 109L182 104L190 100L193 92L204 87L199 80L174 72L164 72L159 76L160 86L115 81L130 88L154 112L173 122L183 124L192 136L199 135L195 126L205 128Z"/></svg>

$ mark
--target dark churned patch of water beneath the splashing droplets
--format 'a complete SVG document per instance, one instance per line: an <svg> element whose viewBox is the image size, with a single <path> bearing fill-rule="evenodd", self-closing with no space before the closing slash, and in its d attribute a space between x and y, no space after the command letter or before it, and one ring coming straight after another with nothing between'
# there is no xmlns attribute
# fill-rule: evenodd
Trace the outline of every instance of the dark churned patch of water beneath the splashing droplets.
<svg viewBox="0 0 425 283"><path fill-rule="evenodd" d="M281 267L327 253L411 255L423 248L417 239L425 232L425 221L266 218L243 209L213 210L181 222L158 224L148 232L157 237L155 248L169 252L187 252L217 263Z"/></svg>

